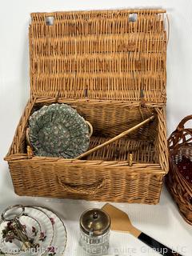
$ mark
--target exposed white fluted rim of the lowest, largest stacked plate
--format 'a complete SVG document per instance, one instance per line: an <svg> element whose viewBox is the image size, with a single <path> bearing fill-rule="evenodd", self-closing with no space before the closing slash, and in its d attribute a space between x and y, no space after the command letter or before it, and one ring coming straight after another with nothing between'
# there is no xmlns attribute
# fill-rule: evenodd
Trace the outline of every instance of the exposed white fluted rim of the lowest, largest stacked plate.
<svg viewBox="0 0 192 256"><path fill-rule="evenodd" d="M40 209L44 211L50 218L53 226L54 226L54 238L51 243L51 245L47 248L46 256L62 256L64 254L64 251L66 249L66 227L62 220L58 218L56 214L54 214L51 210L48 210L46 208L37 207L37 209Z"/></svg>

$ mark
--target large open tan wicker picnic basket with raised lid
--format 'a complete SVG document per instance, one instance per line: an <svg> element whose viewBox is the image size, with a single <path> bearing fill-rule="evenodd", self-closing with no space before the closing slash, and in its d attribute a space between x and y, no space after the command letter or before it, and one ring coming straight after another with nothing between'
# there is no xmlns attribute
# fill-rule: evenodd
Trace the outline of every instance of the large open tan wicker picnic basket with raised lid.
<svg viewBox="0 0 192 256"><path fill-rule="evenodd" d="M159 202L168 170L165 12L31 14L30 101L6 156L16 194ZM155 118L82 160L34 156L26 150L28 119L54 102L92 124L90 148Z"/></svg>

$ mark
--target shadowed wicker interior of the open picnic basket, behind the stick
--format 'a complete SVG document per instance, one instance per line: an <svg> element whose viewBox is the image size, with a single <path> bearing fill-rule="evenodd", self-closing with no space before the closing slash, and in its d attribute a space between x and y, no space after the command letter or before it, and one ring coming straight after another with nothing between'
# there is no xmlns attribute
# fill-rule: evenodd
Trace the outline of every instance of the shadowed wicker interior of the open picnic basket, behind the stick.
<svg viewBox="0 0 192 256"><path fill-rule="evenodd" d="M116 102L67 102L67 104L74 107L92 124L94 134L90 139L90 148L114 138L154 114L155 118L152 122L101 150L95 151L84 159L126 161L132 154L134 162L159 163L158 113L154 108L128 106L126 103ZM38 110L42 105L45 104L34 105L32 112ZM25 134L20 151L20 153L26 153Z"/></svg>

